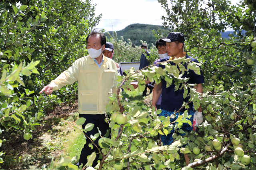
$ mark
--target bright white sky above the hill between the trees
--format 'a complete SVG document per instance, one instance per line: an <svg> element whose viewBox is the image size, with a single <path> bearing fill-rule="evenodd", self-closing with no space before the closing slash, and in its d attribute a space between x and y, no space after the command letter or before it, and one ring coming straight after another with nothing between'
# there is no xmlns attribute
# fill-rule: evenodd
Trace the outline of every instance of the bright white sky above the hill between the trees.
<svg viewBox="0 0 256 170"><path fill-rule="evenodd" d="M236 4L240 0L232 0ZM132 23L162 25L162 16L166 15L158 0L92 0L97 4L95 14L102 14L96 28L106 31L119 31Z"/></svg>

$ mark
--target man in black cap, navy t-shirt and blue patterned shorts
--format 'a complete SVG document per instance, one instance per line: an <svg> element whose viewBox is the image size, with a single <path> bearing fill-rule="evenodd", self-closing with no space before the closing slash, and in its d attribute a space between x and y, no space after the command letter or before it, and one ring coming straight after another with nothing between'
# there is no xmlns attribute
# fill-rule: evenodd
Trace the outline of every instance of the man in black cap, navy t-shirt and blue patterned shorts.
<svg viewBox="0 0 256 170"><path fill-rule="evenodd" d="M190 62L195 62L195 63L199 63L196 59L188 56L185 52L184 52L184 34L183 33L178 33L178 32L171 32L169 33L168 37L166 39L161 39L160 41L165 41L166 42L166 51L168 53L169 57L165 57L164 59L161 59L160 62L164 62L164 61L168 61L168 60L172 60L174 59L174 57L176 58L180 58L180 57L184 57L186 56L186 58L191 58ZM176 65L173 62L169 62L171 65ZM187 70L187 65L183 64ZM164 65L159 65L162 68L165 68ZM179 67L177 66L177 68L179 69ZM188 74L189 73L189 74ZM182 78L189 78L189 80L187 81L188 84L197 84L194 88L196 88L196 91L199 93L202 93L202 83L204 83L204 77L203 77L203 73L202 70L200 69L200 75L196 74L193 70L189 70L189 72L185 71L184 75L182 76ZM181 84L180 84L181 87ZM187 96L186 98L183 98L183 94L184 94L184 90L183 88L179 90L175 90L175 81L172 82L172 84L167 88L166 87L166 81L164 79L162 79L162 82L160 82L159 84L155 84L154 86L154 93L153 93L153 99L152 99L152 106L154 106L156 108L156 102L160 96L162 92L162 101L161 101L161 105L160 105L160 109L162 109L162 112L159 114L159 116L169 116L172 118L170 119L170 122L174 122L176 121L176 119L178 118L178 115L182 115L184 113L185 110L188 111L188 115L191 115L190 117L190 121L191 121L191 125L192 126L198 126L200 123L202 123L202 108L199 107L198 111L194 112L194 108L193 108L193 103L189 103L189 109L185 109L185 107L182 107L183 102L188 103L190 96ZM190 89L188 88L188 95L190 93ZM175 113L175 111L179 112ZM193 122L194 121L194 122ZM174 123L176 124L176 123ZM191 131L193 129L193 127L189 125L188 123L183 123L182 127L180 129L182 129L183 131ZM177 132L178 129L176 129L176 133L177 135L180 136L184 136L185 133L178 133ZM194 129L195 130L195 129ZM172 129L172 131L166 136L166 135L161 135L161 139L162 139L162 143L164 145L170 145L171 143L173 143L174 139L172 137L172 135L174 134L174 128ZM185 160L186 160L186 164L189 164L189 157L187 154L184 155L185 156Z"/></svg>

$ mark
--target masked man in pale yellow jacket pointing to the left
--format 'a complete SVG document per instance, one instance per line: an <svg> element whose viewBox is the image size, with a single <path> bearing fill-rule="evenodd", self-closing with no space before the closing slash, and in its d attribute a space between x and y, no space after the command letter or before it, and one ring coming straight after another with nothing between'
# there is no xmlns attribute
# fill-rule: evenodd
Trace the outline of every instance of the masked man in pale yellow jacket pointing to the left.
<svg viewBox="0 0 256 170"><path fill-rule="evenodd" d="M105 57L102 52L106 46L106 37L95 29L86 38L89 55L76 60L68 70L62 72L55 80L52 80L48 86L45 86L40 93L50 95L53 91L59 90L63 86L73 84L78 81L78 112L79 117L86 119L82 128L88 123L94 124L91 131L85 133L87 137L94 136L101 131L104 136L110 131L108 123L105 121L105 107L109 103L113 93L117 94L117 76L116 64L112 59ZM98 137L94 144L98 145ZM90 140L81 151L79 165L87 163L87 156L92 152L98 153L98 149L93 145L89 147ZM98 146L99 148L99 146ZM100 154L96 154L92 166L97 165Z"/></svg>

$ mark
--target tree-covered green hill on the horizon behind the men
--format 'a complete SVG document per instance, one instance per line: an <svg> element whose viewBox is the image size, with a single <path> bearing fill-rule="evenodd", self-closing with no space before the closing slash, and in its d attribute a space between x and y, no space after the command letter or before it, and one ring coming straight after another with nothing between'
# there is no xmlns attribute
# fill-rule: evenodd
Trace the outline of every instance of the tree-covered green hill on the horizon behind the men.
<svg viewBox="0 0 256 170"><path fill-rule="evenodd" d="M165 29L161 25L149 25L149 24L141 24L141 23L134 23L131 25L128 25L124 29L120 31L116 31L118 38L121 36L124 37L124 41L127 41L127 39L130 39L132 43L134 43L137 46L140 46L140 40L146 41L148 45L151 45L151 43L156 43L156 38L153 35L152 30L155 29L156 31L160 29L162 33L169 33L170 29ZM109 31L111 35L113 35L112 31ZM109 38L109 37L108 37Z"/></svg>

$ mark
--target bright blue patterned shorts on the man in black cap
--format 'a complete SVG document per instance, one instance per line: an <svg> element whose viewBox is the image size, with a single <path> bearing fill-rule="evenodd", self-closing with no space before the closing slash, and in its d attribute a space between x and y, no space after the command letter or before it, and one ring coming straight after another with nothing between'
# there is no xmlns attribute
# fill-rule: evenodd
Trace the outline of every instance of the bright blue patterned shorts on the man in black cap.
<svg viewBox="0 0 256 170"><path fill-rule="evenodd" d="M172 116L174 114L173 111L167 111L167 110L162 109L162 112L159 114L159 116L164 116L164 117L167 117L167 116L171 117L172 116L172 118L170 119L170 122L172 123L172 122L176 121L176 119L178 118L178 115L183 115L183 113L184 112L176 113L176 117L174 117L174 116ZM193 124L194 110L188 111L188 115L191 115L190 119L188 119L188 120L190 120L191 124ZM174 123L174 125L176 125L176 122ZM190 126L188 123L183 123L183 125L180 129L182 129L183 131L188 131L189 132L189 131L193 130L193 127ZM176 131L177 131L176 133L177 133L178 136L179 135L180 136L185 135L185 133L178 133L178 130L179 129L176 129ZM164 145L170 145L170 144L173 143L172 135L174 134L174 131L175 130L173 128L167 136L166 135L161 135L161 140L162 140L162 143Z"/></svg>

